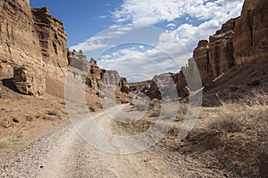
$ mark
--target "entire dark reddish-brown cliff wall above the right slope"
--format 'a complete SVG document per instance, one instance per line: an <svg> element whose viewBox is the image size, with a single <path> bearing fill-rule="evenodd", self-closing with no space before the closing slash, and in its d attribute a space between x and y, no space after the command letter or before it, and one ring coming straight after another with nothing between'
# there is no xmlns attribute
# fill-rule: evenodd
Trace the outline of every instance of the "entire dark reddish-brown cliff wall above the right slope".
<svg viewBox="0 0 268 178"><path fill-rule="evenodd" d="M234 66L268 57L268 1L246 0L241 15L228 20L209 41L202 40L194 60L202 80L219 77Z"/></svg>

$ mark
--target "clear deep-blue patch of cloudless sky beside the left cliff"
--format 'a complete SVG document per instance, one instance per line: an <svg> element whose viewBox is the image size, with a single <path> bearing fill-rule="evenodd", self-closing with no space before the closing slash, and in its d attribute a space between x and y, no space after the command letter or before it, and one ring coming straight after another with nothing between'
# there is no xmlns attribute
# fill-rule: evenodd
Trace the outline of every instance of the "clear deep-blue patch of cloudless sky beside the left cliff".
<svg viewBox="0 0 268 178"><path fill-rule="evenodd" d="M113 25L110 12L121 1L115 0L30 0L32 7L49 7L49 12L63 20L68 46L79 44Z"/></svg>

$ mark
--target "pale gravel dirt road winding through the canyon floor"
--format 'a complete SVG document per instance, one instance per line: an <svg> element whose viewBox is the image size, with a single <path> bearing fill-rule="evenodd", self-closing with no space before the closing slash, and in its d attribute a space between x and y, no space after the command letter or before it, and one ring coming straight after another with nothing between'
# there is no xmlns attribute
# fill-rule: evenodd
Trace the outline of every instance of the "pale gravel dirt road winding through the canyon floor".
<svg viewBox="0 0 268 178"><path fill-rule="evenodd" d="M134 111L133 115L137 115ZM113 113L115 116L116 113ZM105 112L93 116L105 129L120 127ZM109 121L110 120L110 121ZM77 120L85 125L87 120ZM90 129L90 126L88 127ZM127 134L124 129L123 134ZM135 154L112 154L97 150L81 139L71 122L51 129L22 148L5 165L0 177L234 177L217 166L207 167L194 158L157 143Z"/></svg>

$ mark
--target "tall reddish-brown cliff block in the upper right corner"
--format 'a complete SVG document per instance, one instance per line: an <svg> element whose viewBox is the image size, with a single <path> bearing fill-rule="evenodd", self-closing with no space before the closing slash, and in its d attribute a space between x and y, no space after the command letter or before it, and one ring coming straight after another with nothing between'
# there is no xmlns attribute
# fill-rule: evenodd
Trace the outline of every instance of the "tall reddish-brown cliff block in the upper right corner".
<svg viewBox="0 0 268 178"><path fill-rule="evenodd" d="M234 57L242 65L268 56L268 1L245 0L234 28Z"/></svg>

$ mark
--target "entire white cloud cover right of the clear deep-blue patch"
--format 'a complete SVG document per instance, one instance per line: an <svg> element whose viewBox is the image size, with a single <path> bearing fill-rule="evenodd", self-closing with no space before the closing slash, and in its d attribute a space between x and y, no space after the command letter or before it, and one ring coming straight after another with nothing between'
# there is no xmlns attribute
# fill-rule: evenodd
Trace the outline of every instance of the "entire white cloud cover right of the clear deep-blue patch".
<svg viewBox="0 0 268 178"><path fill-rule="evenodd" d="M98 49L104 53L121 42L146 41L134 48L118 47L117 51L113 49L113 53L101 55L97 59L99 66L116 69L130 81L149 79L163 72L179 72L191 57L197 42L213 35L226 20L239 16L242 4L243 0L123 0L113 12L115 23L110 31L71 48L87 51L91 55L88 57L96 57L92 52ZM165 22L165 28L169 30L161 33L155 33L157 30L151 28L133 30L159 22ZM130 26L121 27L121 24ZM155 36L151 36L152 33ZM147 48L146 44L155 48Z"/></svg>

